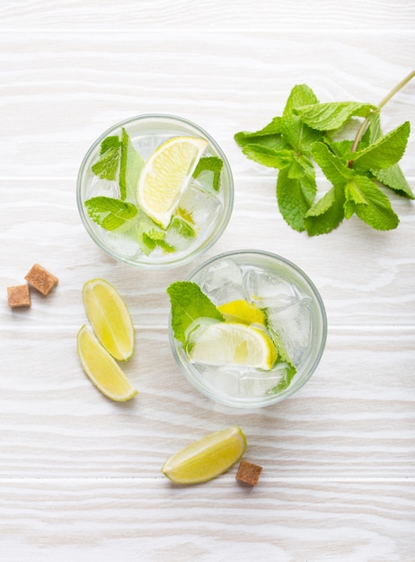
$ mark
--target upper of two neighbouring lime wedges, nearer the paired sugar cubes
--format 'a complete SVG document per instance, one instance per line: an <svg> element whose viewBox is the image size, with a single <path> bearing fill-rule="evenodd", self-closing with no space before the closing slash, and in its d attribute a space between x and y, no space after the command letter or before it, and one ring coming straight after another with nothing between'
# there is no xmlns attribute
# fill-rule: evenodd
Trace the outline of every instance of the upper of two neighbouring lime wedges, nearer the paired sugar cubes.
<svg viewBox="0 0 415 562"><path fill-rule="evenodd" d="M101 344L119 361L127 361L134 351L134 326L117 289L104 279L84 284L86 315Z"/></svg>

